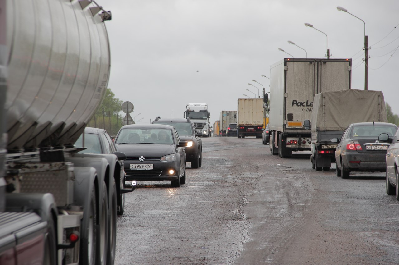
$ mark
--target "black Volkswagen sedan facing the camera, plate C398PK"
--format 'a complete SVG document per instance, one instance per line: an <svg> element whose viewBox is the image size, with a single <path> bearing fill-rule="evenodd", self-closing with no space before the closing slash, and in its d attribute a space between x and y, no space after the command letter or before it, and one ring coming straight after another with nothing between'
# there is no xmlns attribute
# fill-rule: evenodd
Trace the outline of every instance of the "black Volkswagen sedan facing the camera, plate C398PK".
<svg viewBox="0 0 399 265"><path fill-rule="evenodd" d="M124 125L115 146L126 154L127 181L171 181L172 187L186 183L188 142L181 141L170 125Z"/></svg>

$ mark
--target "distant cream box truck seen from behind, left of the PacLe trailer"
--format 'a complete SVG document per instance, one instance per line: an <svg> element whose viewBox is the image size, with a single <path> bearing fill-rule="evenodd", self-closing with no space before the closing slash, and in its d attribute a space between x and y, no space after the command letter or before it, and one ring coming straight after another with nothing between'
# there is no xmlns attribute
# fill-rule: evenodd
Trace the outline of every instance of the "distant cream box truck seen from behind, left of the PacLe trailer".
<svg viewBox="0 0 399 265"><path fill-rule="evenodd" d="M263 133L263 100L259 98L240 98L237 101L237 137L256 136Z"/></svg>

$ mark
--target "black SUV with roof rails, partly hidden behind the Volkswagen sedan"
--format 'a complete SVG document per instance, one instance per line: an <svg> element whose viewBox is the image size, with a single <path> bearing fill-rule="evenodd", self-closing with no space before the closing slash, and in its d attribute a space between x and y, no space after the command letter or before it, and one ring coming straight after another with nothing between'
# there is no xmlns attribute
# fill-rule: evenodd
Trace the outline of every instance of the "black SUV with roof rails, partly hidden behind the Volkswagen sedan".
<svg viewBox="0 0 399 265"><path fill-rule="evenodd" d="M186 150L186 162L191 162L191 168L201 168L202 164L202 133L197 133L196 127L190 117L187 119L176 119L156 117L152 123L172 125L179 134L180 140L192 142L192 146L184 148Z"/></svg>

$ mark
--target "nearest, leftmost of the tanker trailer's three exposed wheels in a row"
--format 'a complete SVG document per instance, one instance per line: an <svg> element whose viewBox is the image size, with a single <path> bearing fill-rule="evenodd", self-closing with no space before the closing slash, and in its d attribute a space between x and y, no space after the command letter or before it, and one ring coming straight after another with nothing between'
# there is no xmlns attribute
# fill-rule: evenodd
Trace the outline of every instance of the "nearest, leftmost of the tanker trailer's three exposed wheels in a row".
<svg viewBox="0 0 399 265"><path fill-rule="evenodd" d="M95 265L97 241L97 201L94 185L90 191L89 198L89 208L85 209L83 212L79 264Z"/></svg>

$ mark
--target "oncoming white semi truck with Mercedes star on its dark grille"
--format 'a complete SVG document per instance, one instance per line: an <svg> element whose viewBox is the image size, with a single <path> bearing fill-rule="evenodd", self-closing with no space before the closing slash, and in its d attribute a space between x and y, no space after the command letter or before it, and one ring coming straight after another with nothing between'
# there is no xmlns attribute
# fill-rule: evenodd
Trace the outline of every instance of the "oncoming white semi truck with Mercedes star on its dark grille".
<svg viewBox="0 0 399 265"><path fill-rule="evenodd" d="M183 117L190 117L196 126L197 133L202 133L203 137L211 136L211 125L209 123L211 113L208 111L207 103L188 103Z"/></svg>

